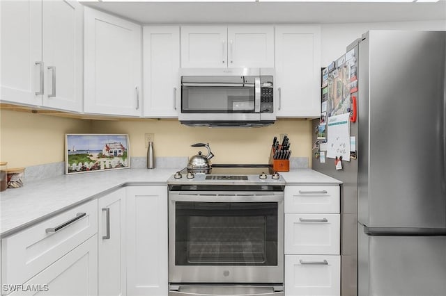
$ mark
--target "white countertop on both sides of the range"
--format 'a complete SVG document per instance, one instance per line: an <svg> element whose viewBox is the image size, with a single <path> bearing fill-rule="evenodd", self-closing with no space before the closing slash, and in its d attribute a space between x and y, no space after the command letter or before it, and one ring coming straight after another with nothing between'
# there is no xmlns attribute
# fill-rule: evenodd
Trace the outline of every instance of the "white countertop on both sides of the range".
<svg viewBox="0 0 446 296"><path fill-rule="evenodd" d="M181 167L182 168L182 167ZM58 176L26 183L0 194L0 236L7 236L56 213L128 185L166 185L181 168L125 169ZM341 182L311 169L282 172L287 185L339 185Z"/></svg>

